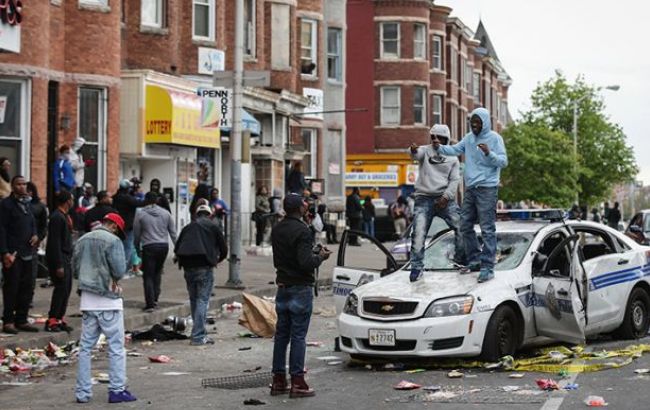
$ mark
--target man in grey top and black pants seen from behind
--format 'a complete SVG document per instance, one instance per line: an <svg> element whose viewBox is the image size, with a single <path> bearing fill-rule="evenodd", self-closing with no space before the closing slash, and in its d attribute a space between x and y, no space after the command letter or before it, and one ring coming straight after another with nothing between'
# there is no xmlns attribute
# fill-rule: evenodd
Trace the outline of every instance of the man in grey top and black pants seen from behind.
<svg viewBox="0 0 650 410"><path fill-rule="evenodd" d="M138 210L133 220L133 242L142 255L142 280L145 312L153 312L160 297L160 280L169 252L167 235L176 242L176 228L172 216L157 205L158 195L149 192L144 197L145 206Z"/></svg>

